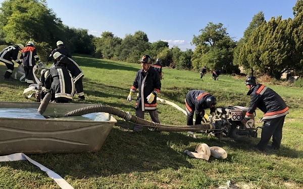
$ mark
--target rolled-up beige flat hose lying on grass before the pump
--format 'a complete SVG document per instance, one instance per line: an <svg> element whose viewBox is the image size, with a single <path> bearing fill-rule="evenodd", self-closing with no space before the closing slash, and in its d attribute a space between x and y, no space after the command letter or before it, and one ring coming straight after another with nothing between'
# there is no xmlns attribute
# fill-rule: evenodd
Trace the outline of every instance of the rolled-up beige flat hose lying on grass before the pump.
<svg viewBox="0 0 303 189"><path fill-rule="evenodd" d="M184 151L184 154L194 157L194 158L199 158L199 159L205 159L209 160L210 156L213 156L215 158L222 158L225 159L227 158L227 152L218 146L213 146L209 147L207 144L198 144L195 149L196 152L190 152L188 150Z"/></svg>

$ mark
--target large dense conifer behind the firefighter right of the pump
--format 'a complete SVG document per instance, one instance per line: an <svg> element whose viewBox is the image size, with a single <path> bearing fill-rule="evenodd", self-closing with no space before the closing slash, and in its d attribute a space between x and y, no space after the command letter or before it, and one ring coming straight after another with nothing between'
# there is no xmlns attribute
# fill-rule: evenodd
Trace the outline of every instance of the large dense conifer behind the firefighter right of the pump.
<svg viewBox="0 0 303 189"><path fill-rule="evenodd" d="M280 79L282 73L292 70L294 42L292 39L293 23L289 18L282 20L274 17L263 22L243 45L240 59L247 61L251 68L261 74Z"/></svg>

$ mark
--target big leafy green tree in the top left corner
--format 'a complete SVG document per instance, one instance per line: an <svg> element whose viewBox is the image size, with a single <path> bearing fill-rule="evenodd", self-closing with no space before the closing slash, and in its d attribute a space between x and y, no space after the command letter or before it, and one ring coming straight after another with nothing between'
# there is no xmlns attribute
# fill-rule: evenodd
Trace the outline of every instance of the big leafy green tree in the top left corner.
<svg viewBox="0 0 303 189"><path fill-rule="evenodd" d="M0 30L8 43L26 43L29 39L49 43L58 31L61 20L47 9L45 1L10 0L0 8Z"/></svg>

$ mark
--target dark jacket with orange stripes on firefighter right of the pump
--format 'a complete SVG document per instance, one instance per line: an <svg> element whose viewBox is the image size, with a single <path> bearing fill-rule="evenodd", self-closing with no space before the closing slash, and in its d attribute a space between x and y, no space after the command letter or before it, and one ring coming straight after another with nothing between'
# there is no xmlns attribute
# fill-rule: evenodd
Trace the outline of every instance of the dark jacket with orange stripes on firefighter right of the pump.
<svg viewBox="0 0 303 189"><path fill-rule="evenodd" d="M250 103L244 117L246 120L251 118L257 107L265 113L261 121L289 113L288 106L280 95L262 84L252 86L247 95L250 95Z"/></svg>

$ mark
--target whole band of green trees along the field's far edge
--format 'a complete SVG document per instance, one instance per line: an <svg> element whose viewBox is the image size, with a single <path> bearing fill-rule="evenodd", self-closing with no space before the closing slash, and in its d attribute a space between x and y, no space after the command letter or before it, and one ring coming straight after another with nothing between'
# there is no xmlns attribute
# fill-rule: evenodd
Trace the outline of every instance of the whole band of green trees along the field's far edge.
<svg viewBox="0 0 303 189"><path fill-rule="evenodd" d="M100 37L86 29L70 28L47 8L45 0L6 0L0 8L0 43L25 44L35 42L39 56L45 60L49 52L62 40L71 52L138 63L143 54L153 60L161 58L162 65L176 69L209 70L264 75L279 79L283 72L303 73L303 0L293 7L294 19L281 16L265 21L263 12L256 14L239 41L233 40L222 23L209 22L193 35L195 49L181 51L169 47L166 41L149 42L143 31L119 38L110 31Z"/></svg>

